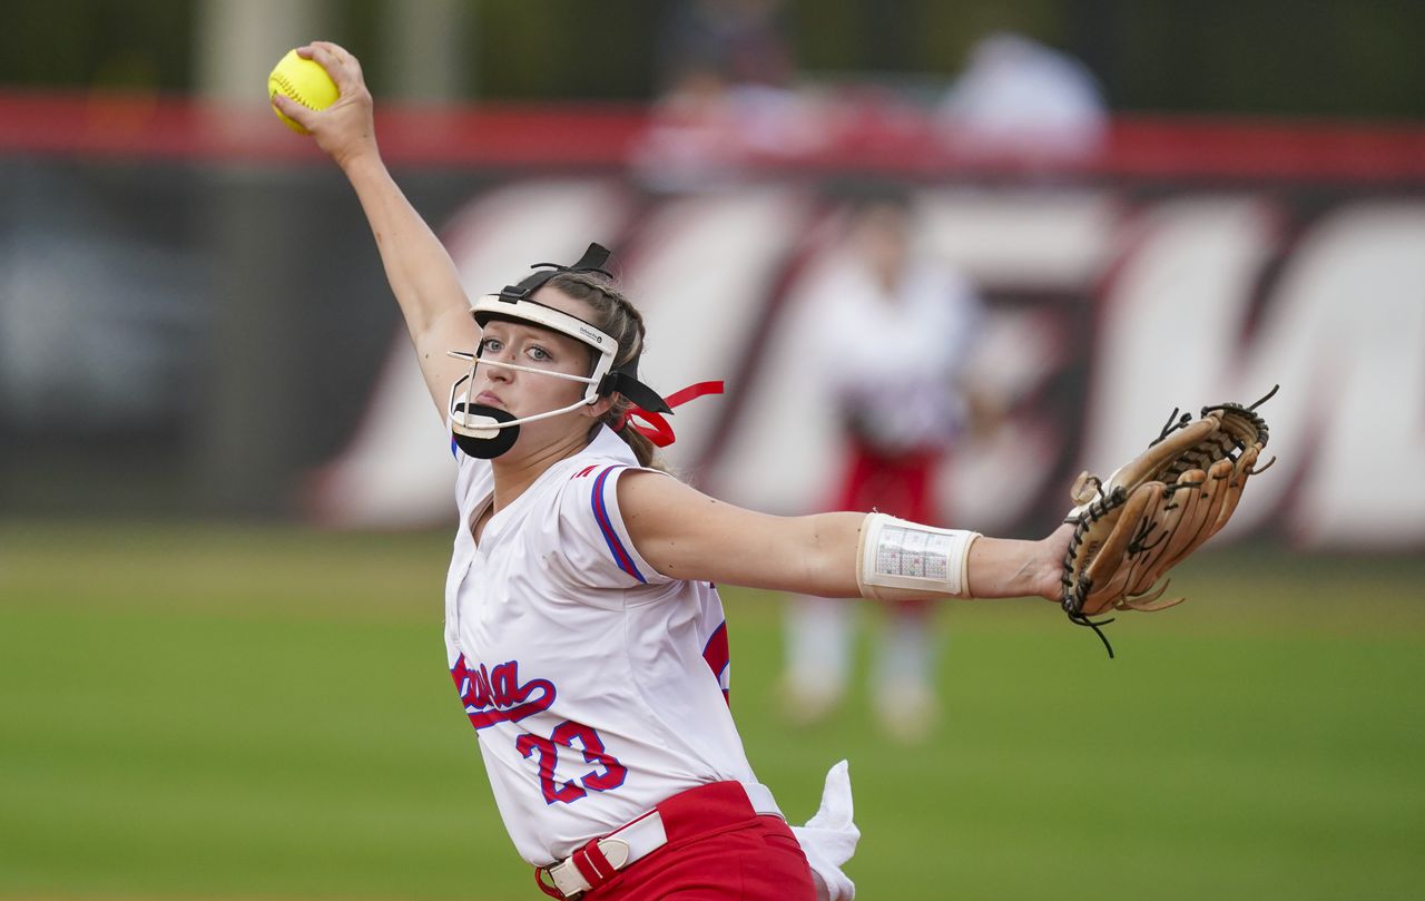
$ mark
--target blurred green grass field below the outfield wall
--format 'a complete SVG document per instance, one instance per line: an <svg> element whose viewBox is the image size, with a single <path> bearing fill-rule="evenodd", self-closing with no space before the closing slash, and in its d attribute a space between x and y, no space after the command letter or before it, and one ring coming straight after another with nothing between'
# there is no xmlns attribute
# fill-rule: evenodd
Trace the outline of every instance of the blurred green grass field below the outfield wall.
<svg viewBox="0 0 1425 901"><path fill-rule="evenodd" d="M0 897L542 898L445 670L447 546L0 525ZM912 748L864 696L779 723L777 599L728 593L734 711L798 823L849 757L869 901L1419 898L1422 585L1204 555L1113 661L1043 602L946 606Z"/></svg>

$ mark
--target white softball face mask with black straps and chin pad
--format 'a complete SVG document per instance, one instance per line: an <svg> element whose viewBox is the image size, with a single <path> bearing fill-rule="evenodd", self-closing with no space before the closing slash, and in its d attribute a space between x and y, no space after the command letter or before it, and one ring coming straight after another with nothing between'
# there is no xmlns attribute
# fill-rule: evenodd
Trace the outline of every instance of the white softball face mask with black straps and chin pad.
<svg viewBox="0 0 1425 901"><path fill-rule="evenodd" d="M618 342L611 335L601 332L584 319L554 309L546 304L530 299L532 295L544 287L560 272L598 272L608 275L603 268L608 259L608 251L597 244L590 244L579 262L561 267L554 262L534 264L534 272L517 285L506 285L499 294L487 294L477 298L470 305L470 314L476 325L482 329L487 322L502 319L547 328L560 335L569 335L574 341L587 345L594 352L594 366L589 375L570 375L567 372L551 372L533 366L520 366L494 359L482 359L483 341L475 354L450 351L450 356L470 361L470 371L450 386L450 429L455 433L455 443L470 456L490 459L500 456L514 446L520 433L520 425L537 419L549 419L590 403L597 403L600 398L618 392L628 398L641 409L653 413L668 413L668 403L651 388L638 381L638 358L614 369L614 359L618 356ZM611 275L610 275L611 278ZM517 372L547 375L551 378L583 382L584 396L563 406L543 413L514 418L512 413L483 403L472 403L470 392L475 389L475 371L479 366L499 366ZM463 389L462 389L463 386Z"/></svg>

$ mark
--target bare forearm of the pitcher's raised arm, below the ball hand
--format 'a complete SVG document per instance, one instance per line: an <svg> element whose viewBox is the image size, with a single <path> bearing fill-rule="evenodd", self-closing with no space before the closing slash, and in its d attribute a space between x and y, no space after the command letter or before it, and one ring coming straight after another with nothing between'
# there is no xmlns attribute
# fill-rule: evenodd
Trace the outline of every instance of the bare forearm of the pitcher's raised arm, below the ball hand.
<svg viewBox="0 0 1425 901"><path fill-rule="evenodd" d="M341 167L370 224L410 339L425 354L428 336L439 331L443 319L469 311L450 254L410 205L378 154L345 160ZM443 346L437 349L445 351Z"/></svg>

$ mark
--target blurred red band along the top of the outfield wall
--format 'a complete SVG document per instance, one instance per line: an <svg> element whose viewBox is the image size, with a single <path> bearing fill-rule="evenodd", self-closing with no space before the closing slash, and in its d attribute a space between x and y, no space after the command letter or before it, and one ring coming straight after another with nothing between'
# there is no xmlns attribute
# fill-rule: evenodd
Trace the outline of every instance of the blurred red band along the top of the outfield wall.
<svg viewBox="0 0 1425 901"><path fill-rule="evenodd" d="M215 108L150 94L0 91L0 153L185 163L315 161L272 128L266 108ZM641 107L383 108L382 153L399 167L626 165L647 134ZM762 154L760 168L963 177L1022 171L1012 160L968 158L935 138L929 117L858 105L795 158ZM571 135L577 135L571 138ZM1057 173L1127 178L1291 178L1357 184L1425 180L1425 127L1227 118L1120 117L1090 160Z"/></svg>

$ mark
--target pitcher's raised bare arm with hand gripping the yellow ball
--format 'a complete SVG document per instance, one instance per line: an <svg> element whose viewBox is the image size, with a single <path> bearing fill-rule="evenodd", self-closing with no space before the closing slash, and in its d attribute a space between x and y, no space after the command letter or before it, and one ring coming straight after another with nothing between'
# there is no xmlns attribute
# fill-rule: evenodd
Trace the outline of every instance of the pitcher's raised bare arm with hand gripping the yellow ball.
<svg viewBox="0 0 1425 901"><path fill-rule="evenodd" d="M322 111L308 110L281 94L272 103L312 133L316 145L332 157L356 190L386 279L405 314L426 388L445 418L450 385L466 366L446 356L446 351L473 349L479 341L479 328L470 318L455 264L380 158L370 91L356 57L328 41L299 47L298 54L319 63L341 96Z"/></svg>

